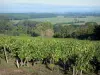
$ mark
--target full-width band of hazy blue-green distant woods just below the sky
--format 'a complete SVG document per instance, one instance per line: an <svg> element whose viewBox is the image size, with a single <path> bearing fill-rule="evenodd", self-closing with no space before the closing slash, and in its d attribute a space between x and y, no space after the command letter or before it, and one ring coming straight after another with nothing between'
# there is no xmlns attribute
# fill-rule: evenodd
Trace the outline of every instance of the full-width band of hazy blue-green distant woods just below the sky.
<svg viewBox="0 0 100 75"><path fill-rule="evenodd" d="M86 16L100 16L100 13L94 12L66 12L66 13L0 13L0 16L7 16L10 20L25 20L33 18L51 18L57 16L72 17L72 18L86 18Z"/></svg>

